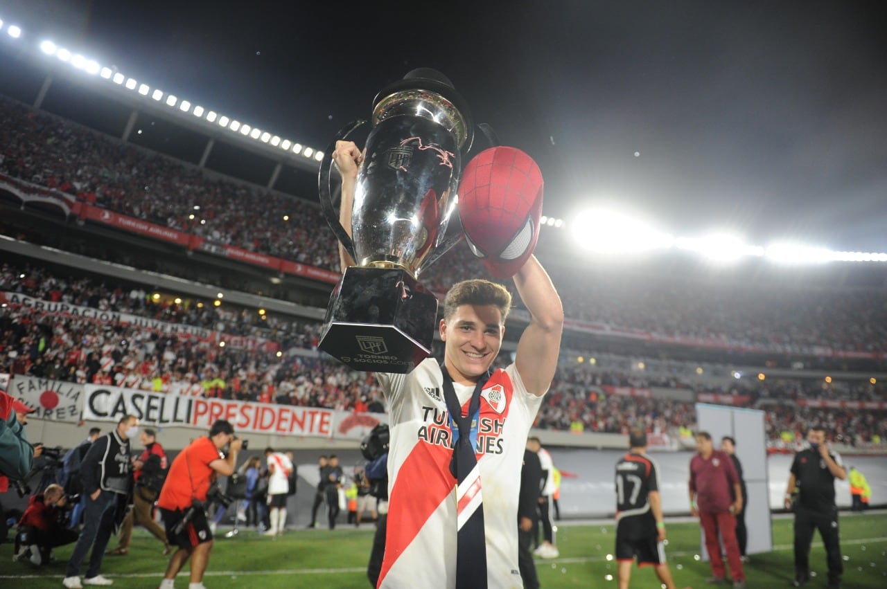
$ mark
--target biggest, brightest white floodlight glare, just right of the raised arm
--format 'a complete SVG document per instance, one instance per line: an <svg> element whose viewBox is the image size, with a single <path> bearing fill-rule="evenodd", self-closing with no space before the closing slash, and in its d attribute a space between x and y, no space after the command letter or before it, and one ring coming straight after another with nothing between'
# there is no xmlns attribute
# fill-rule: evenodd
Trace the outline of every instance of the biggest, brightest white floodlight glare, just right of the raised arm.
<svg viewBox="0 0 887 589"><path fill-rule="evenodd" d="M558 227L558 221L563 224L561 219L549 217L546 225ZM674 242L672 236L652 229L646 222L609 209L594 208L584 211L569 225L577 243L592 252L646 252L671 247Z"/></svg>

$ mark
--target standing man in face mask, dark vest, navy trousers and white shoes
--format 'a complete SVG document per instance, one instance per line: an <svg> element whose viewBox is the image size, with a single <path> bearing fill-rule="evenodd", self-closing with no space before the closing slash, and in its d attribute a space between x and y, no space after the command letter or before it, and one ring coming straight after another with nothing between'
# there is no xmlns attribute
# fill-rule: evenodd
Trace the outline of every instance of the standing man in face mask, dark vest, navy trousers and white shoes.
<svg viewBox="0 0 887 589"><path fill-rule="evenodd" d="M132 487L130 439L138 435L138 418L126 415L117 427L93 442L83 457L80 477L87 496L83 512L83 530L74 553L67 562L62 585L80 589L80 567L92 548L90 564L83 585L112 585L114 581L98 574L105 558L105 548L114 528L123 521Z"/></svg>

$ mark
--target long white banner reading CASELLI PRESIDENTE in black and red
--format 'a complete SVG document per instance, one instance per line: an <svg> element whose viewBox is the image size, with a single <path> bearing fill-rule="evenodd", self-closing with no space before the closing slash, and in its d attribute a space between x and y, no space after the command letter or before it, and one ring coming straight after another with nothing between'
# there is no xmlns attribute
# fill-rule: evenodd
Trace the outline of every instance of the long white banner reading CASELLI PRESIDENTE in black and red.
<svg viewBox="0 0 887 589"><path fill-rule="evenodd" d="M387 415L352 414L321 407L200 399L114 386L84 385L83 419L117 422L136 415L145 425L208 430L217 419L241 432L276 436L362 439Z"/></svg>

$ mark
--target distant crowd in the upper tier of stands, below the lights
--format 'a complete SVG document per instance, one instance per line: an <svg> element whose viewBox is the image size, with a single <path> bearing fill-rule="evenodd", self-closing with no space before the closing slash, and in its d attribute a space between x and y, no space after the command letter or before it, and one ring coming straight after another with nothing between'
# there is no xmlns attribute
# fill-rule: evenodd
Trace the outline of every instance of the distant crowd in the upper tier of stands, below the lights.
<svg viewBox="0 0 887 589"><path fill-rule="evenodd" d="M210 177L3 97L0 114L5 120L0 174L218 244L338 267L332 232L316 205ZM573 321L781 353L887 349L883 290L761 288L550 266L554 283L563 285L561 297ZM444 284L475 275L486 272L467 248L457 246L428 267L421 280L433 291L443 291Z"/></svg>

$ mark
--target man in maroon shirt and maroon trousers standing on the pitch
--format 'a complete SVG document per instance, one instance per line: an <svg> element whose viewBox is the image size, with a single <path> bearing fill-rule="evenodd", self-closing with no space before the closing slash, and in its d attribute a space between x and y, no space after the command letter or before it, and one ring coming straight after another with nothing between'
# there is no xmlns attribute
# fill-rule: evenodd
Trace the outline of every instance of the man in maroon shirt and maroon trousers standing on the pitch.
<svg viewBox="0 0 887 589"><path fill-rule="evenodd" d="M696 434L697 453L690 461L690 506L698 515L705 531L705 548L711 559L710 584L727 583L724 560L718 543L718 532L724 540L734 589L745 588L739 544L736 542L736 517L742 510L742 487L730 456L715 450L707 431ZM734 495L731 495L731 489ZM736 499L733 500L732 497Z"/></svg>

